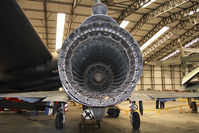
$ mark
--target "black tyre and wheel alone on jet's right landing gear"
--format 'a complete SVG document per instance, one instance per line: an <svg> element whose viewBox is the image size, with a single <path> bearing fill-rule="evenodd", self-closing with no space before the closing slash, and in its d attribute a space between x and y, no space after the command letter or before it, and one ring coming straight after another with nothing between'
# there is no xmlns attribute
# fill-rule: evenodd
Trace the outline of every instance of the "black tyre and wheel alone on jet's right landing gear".
<svg viewBox="0 0 199 133"><path fill-rule="evenodd" d="M140 128L140 115L138 112L131 113L131 124L134 129Z"/></svg>

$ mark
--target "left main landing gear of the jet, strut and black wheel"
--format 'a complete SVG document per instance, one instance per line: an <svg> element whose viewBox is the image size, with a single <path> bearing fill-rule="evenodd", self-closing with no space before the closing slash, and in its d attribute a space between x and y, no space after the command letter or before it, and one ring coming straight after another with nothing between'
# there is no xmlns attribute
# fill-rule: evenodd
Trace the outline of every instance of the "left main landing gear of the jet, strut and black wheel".
<svg viewBox="0 0 199 133"><path fill-rule="evenodd" d="M55 119L55 128L56 129L63 129L63 126L66 121L66 116L65 116L65 103L61 103L57 114L56 114L56 119Z"/></svg>

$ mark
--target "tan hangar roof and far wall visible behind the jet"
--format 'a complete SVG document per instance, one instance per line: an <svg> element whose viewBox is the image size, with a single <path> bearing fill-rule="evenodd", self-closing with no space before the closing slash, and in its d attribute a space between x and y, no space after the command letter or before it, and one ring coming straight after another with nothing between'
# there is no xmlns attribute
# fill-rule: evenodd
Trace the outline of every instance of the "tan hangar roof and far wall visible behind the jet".
<svg viewBox="0 0 199 133"><path fill-rule="evenodd" d="M57 13L66 14L63 40L91 15L93 0L17 0L50 52L56 50ZM152 66L147 62L179 56L178 40L185 48L198 48L199 4L197 0L101 0L108 14L141 47L143 74L138 90L178 90L183 74L181 66ZM158 31L164 30L159 37ZM156 34L156 36L154 36ZM153 38L155 40L150 41ZM147 45L148 44L148 45ZM197 54L187 52L186 55ZM187 72L197 67L187 64Z"/></svg>

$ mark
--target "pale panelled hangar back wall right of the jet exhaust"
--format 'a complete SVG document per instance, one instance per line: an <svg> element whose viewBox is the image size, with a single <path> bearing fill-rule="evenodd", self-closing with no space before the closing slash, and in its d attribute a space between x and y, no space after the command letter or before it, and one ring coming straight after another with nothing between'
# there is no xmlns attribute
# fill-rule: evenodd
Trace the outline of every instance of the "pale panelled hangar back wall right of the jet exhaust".
<svg viewBox="0 0 199 133"><path fill-rule="evenodd" d="M178 90L181 87L180 66L143 66L142 76L136 90Z"/></svg>

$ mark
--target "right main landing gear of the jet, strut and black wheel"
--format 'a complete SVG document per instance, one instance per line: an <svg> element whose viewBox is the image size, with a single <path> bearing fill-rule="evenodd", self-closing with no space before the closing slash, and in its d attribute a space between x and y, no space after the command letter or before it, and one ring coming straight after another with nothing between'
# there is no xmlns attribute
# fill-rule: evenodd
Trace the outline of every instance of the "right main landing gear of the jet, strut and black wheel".
<svg viewBox="0 0 199 133"><path fill-rule="evenodd" d="M136 110L138 109L138 106L135 104L135 102L131 102L131 116L130 121L133 126L133 129L138 130L140 128L140 115Z"/></svg>

